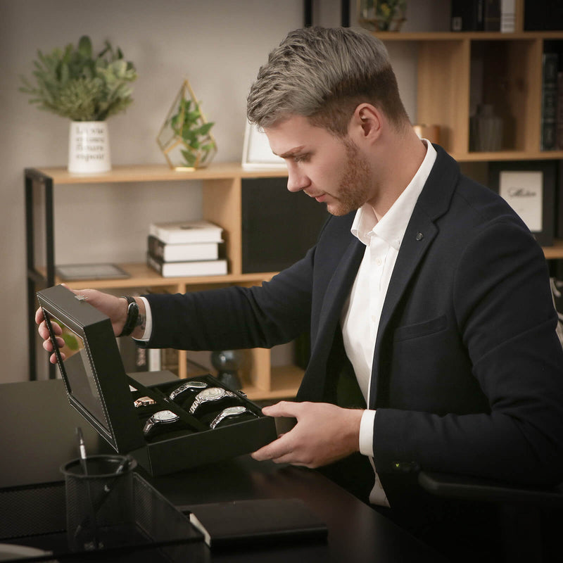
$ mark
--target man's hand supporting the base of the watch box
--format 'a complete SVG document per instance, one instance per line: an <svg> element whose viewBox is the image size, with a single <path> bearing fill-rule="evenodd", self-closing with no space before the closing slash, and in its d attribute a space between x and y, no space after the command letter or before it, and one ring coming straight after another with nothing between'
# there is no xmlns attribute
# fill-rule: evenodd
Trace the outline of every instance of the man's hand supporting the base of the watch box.
<svg viewBox="0 0 563 563"><path fill-rule="evenodd" d="M360 450L361 409L343 409L328 403L281 401L264 407L262 412L270 417L296 417L297 424L253 453L255 460L315 468Z"/></svg>

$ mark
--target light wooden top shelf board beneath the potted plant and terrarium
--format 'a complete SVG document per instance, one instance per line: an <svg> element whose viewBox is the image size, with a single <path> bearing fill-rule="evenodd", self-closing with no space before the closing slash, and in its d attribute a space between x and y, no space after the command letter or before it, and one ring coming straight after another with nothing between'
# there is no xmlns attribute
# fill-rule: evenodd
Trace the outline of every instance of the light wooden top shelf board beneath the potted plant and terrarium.
<svg viewBox="0 0 563 563"><path fill-rule="evenodd" d="M279 167L246 170L238 163L216 163L192 171L172 170L165 164L116 165L101 174L70 174L64 167L37 168L58 184L109 184L122 182L162 182L169 180L233 179L236 177L287 177L287 170Z"/></svg>

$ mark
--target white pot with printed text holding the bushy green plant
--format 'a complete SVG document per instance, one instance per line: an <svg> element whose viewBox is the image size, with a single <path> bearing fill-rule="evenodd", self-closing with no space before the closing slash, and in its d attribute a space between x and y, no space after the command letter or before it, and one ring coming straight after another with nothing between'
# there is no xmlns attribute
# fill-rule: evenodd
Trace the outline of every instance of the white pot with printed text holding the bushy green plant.
<svg viewBox="0 0 563 563"><path fill-rule="evenodd" d="M68 135L68 172L91 174L111 170L108 124L72 121Z"/></svg>

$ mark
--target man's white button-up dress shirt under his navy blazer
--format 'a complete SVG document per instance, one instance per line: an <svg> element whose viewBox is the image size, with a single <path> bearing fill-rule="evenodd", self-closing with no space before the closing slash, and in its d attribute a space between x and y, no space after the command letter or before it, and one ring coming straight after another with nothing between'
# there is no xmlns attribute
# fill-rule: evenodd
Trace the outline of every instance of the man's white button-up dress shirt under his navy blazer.
<svg viewBox="0 0 563 563"><path fill-rule="evenodd" d="M341 325L346 355L352 363L367 405L375 341L387 288L410 216L436 160L436 150L432 144L426 139L423 142L426 156L422 165L387 213L378 222L371 205L362 205L356 212L351 228L352 234L366 248L341 313ZM375 410L365 410L360 424L360 453L369 456L375 472L374 421ZM377 505L389 505L377 472L369 501Z"/></svg>

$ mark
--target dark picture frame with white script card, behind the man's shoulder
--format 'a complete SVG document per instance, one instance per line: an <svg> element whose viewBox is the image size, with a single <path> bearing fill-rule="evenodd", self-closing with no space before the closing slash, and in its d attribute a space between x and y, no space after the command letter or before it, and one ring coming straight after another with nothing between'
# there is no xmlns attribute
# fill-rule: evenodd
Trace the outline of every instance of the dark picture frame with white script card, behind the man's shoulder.
<svg viewBox="0 0 563 563"><path fill-rule="evenodd" d="M557 161L491 162L489 187L526 223L540 246L553 246Z"/></svg>

